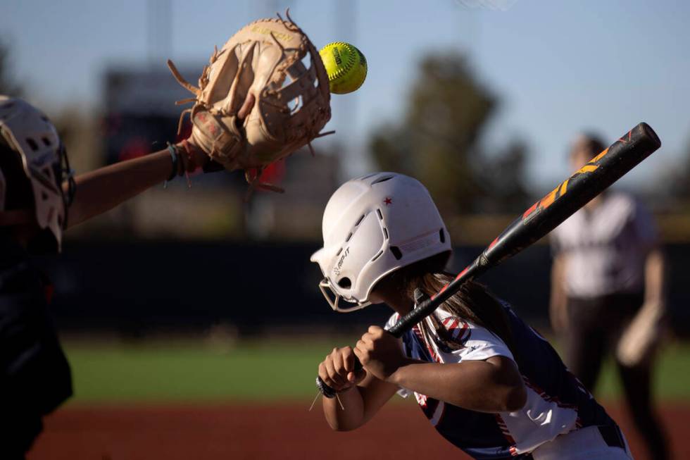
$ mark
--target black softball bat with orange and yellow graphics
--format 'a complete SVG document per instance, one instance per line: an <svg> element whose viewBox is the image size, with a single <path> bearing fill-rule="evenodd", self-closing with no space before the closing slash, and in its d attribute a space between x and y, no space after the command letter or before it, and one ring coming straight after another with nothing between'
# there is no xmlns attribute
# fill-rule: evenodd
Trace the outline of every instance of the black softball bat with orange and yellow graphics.
<svg viewBox="0 0 690 460"><path fill-rule="evenodd" d="M388 332L394 337L401 337L456 294L463 283L477 278L489 268L544 237L659 147L661 141L649 125L640 123L632 128L522 213L453 281L400 318ZM358 360L355 364L356 369L362 366ZM321 378L317 377L316 380L316 385L325 397L335 396L334 390L323 383Z"/></svg>

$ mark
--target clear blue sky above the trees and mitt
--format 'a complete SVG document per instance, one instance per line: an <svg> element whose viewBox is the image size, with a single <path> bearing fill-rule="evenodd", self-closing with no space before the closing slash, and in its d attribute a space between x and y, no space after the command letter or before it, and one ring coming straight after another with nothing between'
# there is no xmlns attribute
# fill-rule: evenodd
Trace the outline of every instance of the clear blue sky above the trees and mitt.
<svg viewBox="0 0 690 460"><path fill-rule="evenodd" d="M249 21L290 6L317 47L349 41L368 58L363 87L332 99L330 128L351 149L351 174L370 168L361 151L371 130L404 110L420 56L447 49L467 54L501 99L484 144L524 138L537 191L567 175L567 142L582 129L613 140L641 120L655 128L663 148L625 179L632 187L672 170L690 143L689 2L517 0L491 11L460 0L170 0L170 21L156 16L169 45L149 46L149 5L160 1L4 0L0 37L28 99L49 113L102 108L108 66L201 64Z"/></svg>

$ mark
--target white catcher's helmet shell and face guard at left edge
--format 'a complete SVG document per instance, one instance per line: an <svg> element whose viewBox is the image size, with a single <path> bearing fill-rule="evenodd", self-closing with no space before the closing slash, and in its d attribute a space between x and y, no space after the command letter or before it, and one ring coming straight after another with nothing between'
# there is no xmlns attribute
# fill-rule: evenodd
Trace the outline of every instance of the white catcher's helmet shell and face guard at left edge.
<svg viewBox="0 0 690 460"><path fill-rule="evenodd" d="M9 182L0 170L0 225L35 222L51 233L59 250L66 225L67 207L74 193L73 172L55 126L42 111L22 99L0 95L0 142L9 149L0 154L16 154L20 168L31 184L34 211L6 209ZM11 152L10 152L11 151ZM3 158L8 164L8 158ZM11 160L10 160L11 161ZM68 182L67 193L63 181ZM25 216L30 216L26 219Z"/></svg>

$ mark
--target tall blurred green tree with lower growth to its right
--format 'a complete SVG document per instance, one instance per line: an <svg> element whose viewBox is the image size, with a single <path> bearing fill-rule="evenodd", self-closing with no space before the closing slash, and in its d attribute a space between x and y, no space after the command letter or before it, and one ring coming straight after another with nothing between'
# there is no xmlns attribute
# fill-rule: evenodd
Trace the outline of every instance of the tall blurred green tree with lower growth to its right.
<svg viewBox="0 0 690 460"><path fill-rule="evenodd" d="M382 126L370 139L374 161L421 180L446 212L514 211L527 197L526 145L515 141L491 158L479 146L497 105L462 55L427 56L399 124Z"/></svg>

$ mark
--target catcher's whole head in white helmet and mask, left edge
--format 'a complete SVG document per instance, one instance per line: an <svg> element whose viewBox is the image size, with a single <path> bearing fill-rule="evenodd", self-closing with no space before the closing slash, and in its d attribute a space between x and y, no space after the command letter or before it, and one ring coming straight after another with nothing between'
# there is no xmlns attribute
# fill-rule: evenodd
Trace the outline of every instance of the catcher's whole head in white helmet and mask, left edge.
<svg viewBox="0 0 690 460"><path fill-rule="evenodd" d="M26 101L0 95L0 155L0 226L35 223L30 249L59 251L75 181L55 126Z"/></svg>

